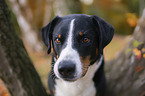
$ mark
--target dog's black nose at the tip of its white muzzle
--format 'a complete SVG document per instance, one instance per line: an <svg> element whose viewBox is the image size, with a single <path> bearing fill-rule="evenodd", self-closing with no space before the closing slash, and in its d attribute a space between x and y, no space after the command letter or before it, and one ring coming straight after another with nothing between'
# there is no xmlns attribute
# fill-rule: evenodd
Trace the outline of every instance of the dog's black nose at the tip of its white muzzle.
<svg viewBox="0 0 145 96"><path fill-rule="evenodd" d="M72 77L75 73L75 64L72 61L62 61L59 63L58 71L64 78Z"/></svg>

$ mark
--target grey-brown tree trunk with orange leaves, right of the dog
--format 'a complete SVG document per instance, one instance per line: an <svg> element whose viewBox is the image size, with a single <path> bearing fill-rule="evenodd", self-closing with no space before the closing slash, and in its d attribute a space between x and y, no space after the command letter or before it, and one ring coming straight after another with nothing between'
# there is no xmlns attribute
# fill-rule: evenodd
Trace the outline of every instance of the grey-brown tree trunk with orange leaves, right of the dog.
<svg viewBox="0 0 145 96"><path fill-rule="evenodd" d="M132 40L106 70L107 96L145 96L145 9Z"/></svg>

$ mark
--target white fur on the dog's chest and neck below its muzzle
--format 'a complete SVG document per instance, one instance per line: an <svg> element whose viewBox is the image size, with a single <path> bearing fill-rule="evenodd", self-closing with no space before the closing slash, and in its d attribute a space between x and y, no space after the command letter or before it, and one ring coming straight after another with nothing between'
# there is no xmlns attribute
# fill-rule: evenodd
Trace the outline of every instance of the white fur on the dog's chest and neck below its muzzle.
<svg viewBox="0 0 145 96"><path fill-rule="evenodd" d="M94 86L93 76L99 66L98 64L93 64L89 67L86 75L75 82L56 79L55 96L95 96L96 88Z"/></svg>

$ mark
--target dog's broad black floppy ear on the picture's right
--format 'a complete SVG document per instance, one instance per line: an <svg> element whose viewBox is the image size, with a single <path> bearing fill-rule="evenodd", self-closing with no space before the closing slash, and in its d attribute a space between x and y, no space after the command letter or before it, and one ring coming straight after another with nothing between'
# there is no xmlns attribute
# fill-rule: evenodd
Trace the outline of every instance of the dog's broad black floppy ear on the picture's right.
<svg viewBox="0 0 145 96"><path fill-rule="evenodd" d="M110 43L114 35L114 28L102 18L93 15L93 23L96 26L99 37L99 51L103 53L103 49Z"/></svg>

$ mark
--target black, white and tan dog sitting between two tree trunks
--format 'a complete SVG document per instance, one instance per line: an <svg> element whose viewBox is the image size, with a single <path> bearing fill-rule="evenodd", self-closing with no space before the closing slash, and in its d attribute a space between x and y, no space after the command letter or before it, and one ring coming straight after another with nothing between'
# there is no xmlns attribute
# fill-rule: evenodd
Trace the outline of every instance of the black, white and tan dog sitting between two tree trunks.
<svg viewBox="0 0 145 96"><path fill-rule="evenodd" d="M113 35L113 26L96 15L56 16L43 27L41 37L48 54L53 47L51 96L103 96L103 49Z"/></svg>

